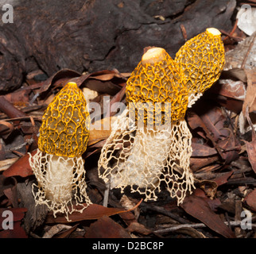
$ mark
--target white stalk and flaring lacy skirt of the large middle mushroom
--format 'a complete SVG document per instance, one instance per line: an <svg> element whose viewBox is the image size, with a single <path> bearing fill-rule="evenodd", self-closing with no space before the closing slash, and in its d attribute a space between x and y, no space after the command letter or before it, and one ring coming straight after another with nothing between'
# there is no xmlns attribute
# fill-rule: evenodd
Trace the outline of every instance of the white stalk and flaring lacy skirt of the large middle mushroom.
<svg viewBox="0 0 256 254"><path fill-rule="evenodd" d="M156 191L160 192L164 183L179 204L186 192L194 188L189 168L191 140L184 119L173 122L167 129L138 129L125 110L114 122L103 147L99 167L105 170L99 175L106 183L111 182L111 189L124 191L130 186L131 192L145 194L145 201L157 200ZM127 144L130 146L126 147Z"/></svg>

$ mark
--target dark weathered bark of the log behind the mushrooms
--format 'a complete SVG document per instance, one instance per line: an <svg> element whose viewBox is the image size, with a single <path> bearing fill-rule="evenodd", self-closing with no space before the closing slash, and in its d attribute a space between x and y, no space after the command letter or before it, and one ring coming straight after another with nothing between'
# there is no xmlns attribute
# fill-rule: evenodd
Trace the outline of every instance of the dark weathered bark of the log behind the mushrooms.
<svg viewBox="0 0 256 254"><path fill-rule="evenodd" d="M8 1L7 1L8 2ZM231 29L235 0L13 0L14 23L0 21L0 90L15 90L40 68L132 71L143 48L174 56L184 37ZM4 12L2 12L4 13ZM159 18L157 16L165 17Z"/></svg>

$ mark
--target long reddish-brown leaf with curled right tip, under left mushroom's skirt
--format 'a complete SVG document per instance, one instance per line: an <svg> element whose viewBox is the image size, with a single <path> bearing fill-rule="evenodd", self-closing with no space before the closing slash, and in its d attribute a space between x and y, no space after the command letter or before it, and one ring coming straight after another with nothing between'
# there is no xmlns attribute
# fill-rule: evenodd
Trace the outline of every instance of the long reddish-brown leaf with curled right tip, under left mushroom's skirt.
<svg viewBox="0 0 256 254"><path fill-rule="evenodd" d="M134 206L130 210L134 210L141 204L142 200L138 202L136 206ZM77 206L78 209L80 209L80 206ZM114 208L114 207L105 207L100 206L97 204L91 204L86 209L83 210L82 213L80 212L74 212L70 215L68 215L68 218L70 221L84 221L84 220L96 220L103 216L111 216L114 214L121 214L129 212L130 210L124 210L121 208ZM64 214L58 214L57 217L53 217L52 213L49 213L46 218L46 223L66 223L68 222Z"/></svg>

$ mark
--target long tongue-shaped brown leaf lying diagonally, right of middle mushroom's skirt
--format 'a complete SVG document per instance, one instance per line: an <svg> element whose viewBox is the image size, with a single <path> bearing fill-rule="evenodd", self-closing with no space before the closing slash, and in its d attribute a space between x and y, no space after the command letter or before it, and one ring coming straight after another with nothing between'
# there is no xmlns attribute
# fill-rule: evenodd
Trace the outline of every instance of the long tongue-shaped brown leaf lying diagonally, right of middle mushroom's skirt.
<svg viewBox="0 0 256 254"><path fill-rule="evenodd" d="M223 237L235 237L232 230L220 219L218 214L215 214L211 210L204 198L196 197L196 195L191 194L184 198L184 202L180 206L186 211L186 213L204 222L204 224L210 229L219 233Z"/></svg>

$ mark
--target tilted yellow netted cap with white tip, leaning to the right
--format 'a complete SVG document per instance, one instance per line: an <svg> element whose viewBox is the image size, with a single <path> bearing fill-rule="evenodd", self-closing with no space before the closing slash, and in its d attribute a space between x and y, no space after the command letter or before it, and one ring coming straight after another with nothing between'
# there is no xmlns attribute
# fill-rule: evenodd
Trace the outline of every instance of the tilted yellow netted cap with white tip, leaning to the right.
<svg viewBox="0 0 256 254"><path fill-rule="evenodd" d="M188 93L204 93L219 79L225 64L219 30L209 28L188 40L176 53L175 62L184 75Z"/></svg>

